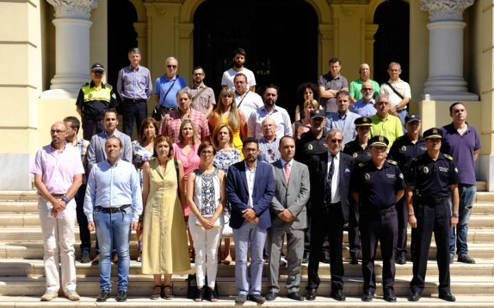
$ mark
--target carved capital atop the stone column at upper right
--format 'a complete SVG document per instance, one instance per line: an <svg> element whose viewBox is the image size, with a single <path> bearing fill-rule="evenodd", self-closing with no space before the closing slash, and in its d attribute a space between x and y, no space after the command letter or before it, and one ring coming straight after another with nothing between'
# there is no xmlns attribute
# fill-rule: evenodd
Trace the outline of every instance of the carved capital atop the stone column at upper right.
<svg viewBox="0 0 494 308"><path fill-rule="evenodd" d="M463 12L475 0L421 0L421 10L429 12L430 21L462 21Z"/></svg>

